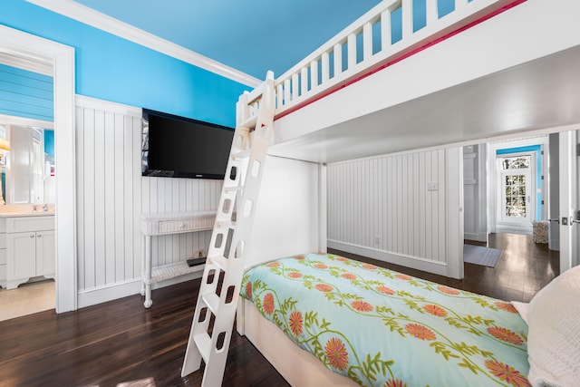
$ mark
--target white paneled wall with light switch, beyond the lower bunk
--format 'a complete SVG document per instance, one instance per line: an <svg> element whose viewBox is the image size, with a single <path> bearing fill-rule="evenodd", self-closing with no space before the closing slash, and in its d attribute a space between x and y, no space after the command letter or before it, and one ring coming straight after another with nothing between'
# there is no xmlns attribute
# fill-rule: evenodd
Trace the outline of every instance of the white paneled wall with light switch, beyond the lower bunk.
<svg viewBox="0 0 580 387"><path fill-rule="evenodd" d="M430 150L330 164L329 247L446 275L447 196L449 189L459 190L460 172L449 162L451 151L459 152ZM451 207L456 205L460 210L459 204Z"/></svg>

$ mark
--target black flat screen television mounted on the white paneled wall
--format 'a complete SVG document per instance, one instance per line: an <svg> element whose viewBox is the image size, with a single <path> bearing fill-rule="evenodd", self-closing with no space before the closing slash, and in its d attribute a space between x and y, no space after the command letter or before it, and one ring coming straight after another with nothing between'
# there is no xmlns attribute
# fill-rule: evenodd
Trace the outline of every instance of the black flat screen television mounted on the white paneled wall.
<svg viewBox="0 0 580 387"><path fill-rule="evenodd" d="M233 128L143 109L142 176L224 179Z"/></svg>

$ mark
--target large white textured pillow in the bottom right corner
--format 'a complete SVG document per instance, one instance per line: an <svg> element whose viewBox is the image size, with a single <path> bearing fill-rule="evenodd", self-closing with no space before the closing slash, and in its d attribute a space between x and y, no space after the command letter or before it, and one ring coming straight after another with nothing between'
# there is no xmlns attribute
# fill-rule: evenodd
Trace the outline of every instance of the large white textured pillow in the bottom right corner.
<svg viewBox="0 0 580 387"><path fill-rule="evenodd" d="M529 382L534 387L580 385L580 266L532 298L527 324Z"/></svg>

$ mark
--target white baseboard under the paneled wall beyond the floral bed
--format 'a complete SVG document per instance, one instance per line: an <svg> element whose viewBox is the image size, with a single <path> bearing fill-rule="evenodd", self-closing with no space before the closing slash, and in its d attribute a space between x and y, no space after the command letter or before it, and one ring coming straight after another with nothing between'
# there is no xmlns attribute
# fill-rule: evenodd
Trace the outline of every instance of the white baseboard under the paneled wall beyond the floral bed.
<svg viewBox="0 0 580 387"><path fill-rule="evenodd" d="M413 269L422 270L439 276L448 276L448 267L447 263L445 262L429 261L418 256L403 256L401 254L392 254L387 251L377 250L376 248L357 246L330 239L328 240L328 247L359 256L368 256L370 258L389 262L395 265L411 267Z"/></svg>

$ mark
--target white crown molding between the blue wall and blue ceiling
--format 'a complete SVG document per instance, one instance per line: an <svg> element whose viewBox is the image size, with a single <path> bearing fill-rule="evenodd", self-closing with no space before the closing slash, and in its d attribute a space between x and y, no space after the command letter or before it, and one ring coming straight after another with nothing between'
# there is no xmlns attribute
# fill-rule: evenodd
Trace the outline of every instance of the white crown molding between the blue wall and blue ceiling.
<svg viewBox="0 0 580 387"><path fill-rule="evenodd" d="M145 32L130 24L126 24L89 8L88 6L75 3L73 0L26 0L28 3L41 6L56 14L70 17L83 24L91 25L109 34L117 35L135 44L148 47L160 53L164 53L180 61L193 64L208 72L216 73L232 81L240 82L247 86L256 87L260 80L242 73L223 63L218 63L206 56L195 53L187 48L174 44L159 36Z"/></svg>

